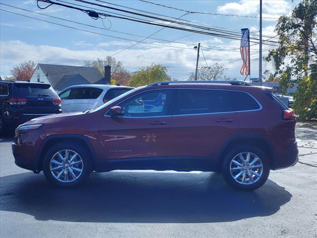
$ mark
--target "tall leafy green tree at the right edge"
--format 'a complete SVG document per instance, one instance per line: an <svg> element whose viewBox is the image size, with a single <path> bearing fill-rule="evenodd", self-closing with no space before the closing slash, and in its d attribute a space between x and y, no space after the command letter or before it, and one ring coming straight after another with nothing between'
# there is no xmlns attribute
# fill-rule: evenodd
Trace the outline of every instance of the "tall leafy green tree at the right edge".
<svg viewBox="0 0 317 238"><path fill-rule="evenodd" d="M278 47L269 51L285 93L297 81L293 108L300 119L317 119L317 0L303 0L275 27Z"/></svg>

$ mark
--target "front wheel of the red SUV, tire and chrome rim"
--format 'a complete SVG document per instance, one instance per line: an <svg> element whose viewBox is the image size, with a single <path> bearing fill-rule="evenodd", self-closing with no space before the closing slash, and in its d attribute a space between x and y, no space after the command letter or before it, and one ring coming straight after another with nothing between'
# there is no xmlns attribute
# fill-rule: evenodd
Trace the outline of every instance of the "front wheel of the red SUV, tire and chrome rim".
<svg viewBox="0 0 317 238"><path fill-rule="evenodd" d="M54 145L45 155L43 172L50 182L62 187L72 187L83 182L91 172L89 153L73 143Z"/></svg>

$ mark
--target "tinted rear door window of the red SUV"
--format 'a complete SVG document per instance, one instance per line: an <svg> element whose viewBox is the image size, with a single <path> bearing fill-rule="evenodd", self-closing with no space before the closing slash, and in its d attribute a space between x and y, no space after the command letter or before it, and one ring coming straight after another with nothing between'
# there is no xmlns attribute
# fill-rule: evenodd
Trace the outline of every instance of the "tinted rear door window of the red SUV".
<svg viewBox="0 0 317 238"><path fill-rule="evenodd" d="M175 114L202 114L231 111L229 96L224 90L179 90Z"/></svg>

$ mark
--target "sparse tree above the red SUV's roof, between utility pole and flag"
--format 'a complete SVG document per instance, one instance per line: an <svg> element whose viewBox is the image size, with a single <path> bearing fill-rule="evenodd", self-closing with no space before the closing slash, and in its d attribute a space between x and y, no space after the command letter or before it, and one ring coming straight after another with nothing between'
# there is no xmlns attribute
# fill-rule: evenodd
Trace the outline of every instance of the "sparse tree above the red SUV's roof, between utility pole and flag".
<svg viewBox="0 0 317 238"><path fill-rule="evenodd" d="M222 63L215 63L212 66L198 67L197 80L222 80L224 79L223 71L225 69L226 68L224 68L224 64ZM195 72L191 72L189 79L195 80Z"/></svg>

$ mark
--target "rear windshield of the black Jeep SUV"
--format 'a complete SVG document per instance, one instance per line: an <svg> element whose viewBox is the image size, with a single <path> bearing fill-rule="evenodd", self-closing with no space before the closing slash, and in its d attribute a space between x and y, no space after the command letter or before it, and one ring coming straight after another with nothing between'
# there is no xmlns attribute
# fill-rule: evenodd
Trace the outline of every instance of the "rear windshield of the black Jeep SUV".
<svg viewBox="0 0 317 238"><path fill-rule="evenodd" d="M54 96L58 97L50 84L41 83L14 83L14 95L18 98Z"/></svg>

